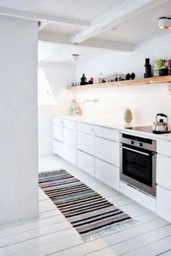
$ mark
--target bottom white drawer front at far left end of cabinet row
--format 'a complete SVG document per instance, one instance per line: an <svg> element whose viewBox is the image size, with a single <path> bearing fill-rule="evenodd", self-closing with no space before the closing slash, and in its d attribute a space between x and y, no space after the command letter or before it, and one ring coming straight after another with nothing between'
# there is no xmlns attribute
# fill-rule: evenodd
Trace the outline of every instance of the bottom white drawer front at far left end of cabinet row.
<svg viewBox="0 0 171 256"><path fill-rule="evenodd" d="M77 150L72 146L68 146L61 141L53 140L53 152L58 154L60 157L63 157L68 162L71 162L72 165L77 163Z"/></svg>

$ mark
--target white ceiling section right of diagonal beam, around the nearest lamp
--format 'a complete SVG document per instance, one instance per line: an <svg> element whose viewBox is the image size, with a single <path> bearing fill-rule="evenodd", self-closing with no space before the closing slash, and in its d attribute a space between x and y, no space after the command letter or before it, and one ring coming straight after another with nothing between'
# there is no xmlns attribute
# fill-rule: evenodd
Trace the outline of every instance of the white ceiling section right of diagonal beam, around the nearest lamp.
<svg viewBox="0 0 171 256"><path fill-rule="evenodd" d="M139 44L151 38L171 33L170 30L162 30L159 28L157 22L159 17L171 17L171 0L162 4L162 6L150 9L149 12L144 12L141 15L127 20L127 22L117 25L114 27L116 30L106 30L104 33L94 36L94 38L119 41L128 44Z"/></svg>

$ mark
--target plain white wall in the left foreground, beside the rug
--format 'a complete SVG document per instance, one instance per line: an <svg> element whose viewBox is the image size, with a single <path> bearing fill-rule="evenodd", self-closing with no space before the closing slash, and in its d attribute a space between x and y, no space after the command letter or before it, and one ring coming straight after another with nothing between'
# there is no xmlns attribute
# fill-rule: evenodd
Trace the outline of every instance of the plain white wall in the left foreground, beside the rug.
<svg viewBox="0 0 171 256"><path fill-rule="evenodd" d="M37 37L0 16L0 226L38 216Z"/></svg>

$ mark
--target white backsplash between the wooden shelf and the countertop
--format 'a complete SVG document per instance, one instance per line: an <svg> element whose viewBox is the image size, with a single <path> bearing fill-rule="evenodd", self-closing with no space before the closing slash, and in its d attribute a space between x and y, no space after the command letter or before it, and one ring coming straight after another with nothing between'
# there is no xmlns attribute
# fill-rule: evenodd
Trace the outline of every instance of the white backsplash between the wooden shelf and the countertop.
<svg viewBox="0 0 171 256"><path fill-rule="evenodd" d="M77 91L83 115L87 117L113 117L123 120L127 107L133 112L133 123L151 124L159 112L168 115L171 123L171 95L167 84L96 88ZM99 99L99 102L86 102Z"/></svg>

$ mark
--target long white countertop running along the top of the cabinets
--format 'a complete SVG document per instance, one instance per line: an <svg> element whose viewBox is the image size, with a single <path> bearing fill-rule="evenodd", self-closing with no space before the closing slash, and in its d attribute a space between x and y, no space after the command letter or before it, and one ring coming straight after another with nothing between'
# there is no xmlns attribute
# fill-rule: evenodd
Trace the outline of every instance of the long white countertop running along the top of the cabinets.
<svg viewBox="0 0 171 256"><path fill-rule="evenodd" d="M164 139L171 141L171 133L165 134L154 134L146 133L143 131L128 130L126 128L138 127L138 126L149 126L147 123L125 123L124 121L114 120L114 118L107 117L84 117L84 116L72 116L72 115L53 115L53 117L59 117L66 120L72 120L80 123L88 123L91 125L99 125L102 127L112 128L125 133L135 134L137 136L143 136L151 139Z"/></svg>

